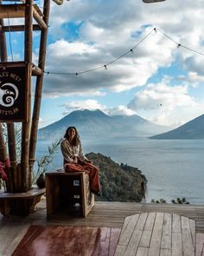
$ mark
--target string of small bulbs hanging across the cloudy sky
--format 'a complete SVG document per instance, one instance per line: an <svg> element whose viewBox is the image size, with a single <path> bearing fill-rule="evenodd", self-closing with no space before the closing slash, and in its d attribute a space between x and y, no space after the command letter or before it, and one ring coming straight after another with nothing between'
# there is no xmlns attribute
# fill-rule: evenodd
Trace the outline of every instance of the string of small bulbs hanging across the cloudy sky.
<svg viewBox="0 0 204 256"><path fill-rule="evenodd" d="M112 63L114 62L117 62L119 59L121 59L122 57L128 55L129 53L133 53L133 50L137 48L137 46L140 44L140 43L143 43L143 41L148 38L152 31L155 31L157 33L157 31L159 31L163 36L167 37L170 41L172 41L173 43L176 44L177 48L184 48L184 49L188 49L196 54L200 54L201 56L204 56L204 53L201 53L200 51L197 51L195 49L191 49L185 45L183 45L182 43L177 43L175 42L174 39L172 39L170 36L166 35L162 30L159 30L157 28L154 28L153 30L150 30L150 32L143 37L142 40L140 40L134 47L132 47L130 50L126 51L124 54L122 54L121 56L118 56L117 58L115 58L114 60L112 60L112 62L108 62L106 63L105 65L101 65L99 67L96 67L96 68L93 68L93 69L87 69L85 71L80 71L80 72L75 72L75 73L67 73L67 72L52 72L52 71L44 71L45 74L49 75L49 74L52 74L52 75L81 75L81 74L85 74L85 73L89 73L89 72L92 72L92 71L95 71L95 70L98 70L98 69L107 69L107 66L111 65Z"/></svg>

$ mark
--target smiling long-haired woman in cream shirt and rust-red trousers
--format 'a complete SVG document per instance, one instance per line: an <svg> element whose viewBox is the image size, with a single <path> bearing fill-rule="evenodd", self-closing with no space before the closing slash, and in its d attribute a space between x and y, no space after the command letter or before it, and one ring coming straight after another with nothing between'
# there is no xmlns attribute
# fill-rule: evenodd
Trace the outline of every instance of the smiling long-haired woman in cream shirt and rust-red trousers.
<svg viewBox="0 0 204 256"><path fill-rule="evenodd" d="M65 172L86 172L89 174L90 190L93 194L100 194L99 168L92 164L83 154L80 136L75 127L67 128L64 140L61 141L61 153L64 157Z"/></svg>

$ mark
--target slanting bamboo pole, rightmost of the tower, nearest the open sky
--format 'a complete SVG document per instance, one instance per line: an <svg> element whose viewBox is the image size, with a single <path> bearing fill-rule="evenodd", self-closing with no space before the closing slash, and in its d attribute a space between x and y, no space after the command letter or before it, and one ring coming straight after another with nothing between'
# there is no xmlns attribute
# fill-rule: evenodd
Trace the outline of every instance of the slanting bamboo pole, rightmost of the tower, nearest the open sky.
<svg viewBox="0 0 204 256"><path fill-rule="evenodd" d="M47 29L41 30L41 43L40 43L39 60L38 60L38 67L41 70L44 70L45 68L49 10L50 10L50 0L45 0L44 6L43 6L43 20L47 24ZM38 128L40 108L41 108L42 82L43 82L43 74L37 76L36 86L35 86L35 102L34 102L34 109L33 109L33 116L32 116L30 147L29 147L29 177L30 177L29 183L30 184L32 182L33 166L35 162L37 128Z"/></svg>

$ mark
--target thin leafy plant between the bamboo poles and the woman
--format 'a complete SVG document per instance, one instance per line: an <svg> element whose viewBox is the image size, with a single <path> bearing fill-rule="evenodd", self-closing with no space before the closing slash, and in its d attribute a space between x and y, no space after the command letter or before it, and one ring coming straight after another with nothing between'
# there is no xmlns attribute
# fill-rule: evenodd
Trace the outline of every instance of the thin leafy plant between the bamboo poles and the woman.
<svg viewBox="0 0 204 256"><path fill-rule="evenodd" d="M36 182L36 179L41 175L45 174L48 171L49 165L54 160L54 154L58 150L61 140L52 142L52 145L48 147L48 154L45 154L41 157L41 160L35 160L37 163L37 168L34 170L33 183Z"/></svg>

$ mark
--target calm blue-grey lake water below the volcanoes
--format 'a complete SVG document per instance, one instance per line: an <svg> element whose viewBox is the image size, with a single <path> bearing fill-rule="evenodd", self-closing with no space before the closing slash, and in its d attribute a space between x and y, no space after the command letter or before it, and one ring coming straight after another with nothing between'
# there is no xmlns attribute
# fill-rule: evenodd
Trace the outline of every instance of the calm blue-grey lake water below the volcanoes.
<svg viewBox="0 0 204 256"><path fill-rule="evenodd" d="M50 144L40 141L36 157L46 154ZM138 167L148 179L149 202L185 197L191 204L204 204L204 140L97 139L82 140L82 144L85 154L101 153L118 163ZM59 149L50 168L61 167L61 163Z"/></svg>

